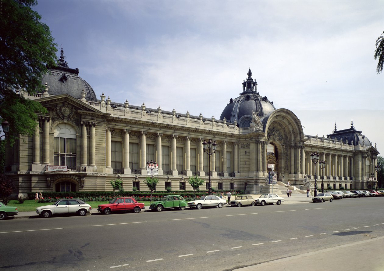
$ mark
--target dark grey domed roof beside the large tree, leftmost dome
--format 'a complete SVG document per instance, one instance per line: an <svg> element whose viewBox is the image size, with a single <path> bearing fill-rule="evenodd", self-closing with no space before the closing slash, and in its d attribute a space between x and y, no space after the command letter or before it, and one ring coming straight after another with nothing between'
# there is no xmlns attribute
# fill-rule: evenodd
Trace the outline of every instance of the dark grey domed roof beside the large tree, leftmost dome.
<svg viewBox="0 0 384 271"><path fill-rule="evenodd" d="M68 94L76 99L81 99L81 92L84 90L87 101L97 101L96 94L92 87L79 76L79 69L69 68L67 62L64 61L63 48L57 67L48 68L48 73L43 76L41 83L48 84L50 95Z"/></svg>

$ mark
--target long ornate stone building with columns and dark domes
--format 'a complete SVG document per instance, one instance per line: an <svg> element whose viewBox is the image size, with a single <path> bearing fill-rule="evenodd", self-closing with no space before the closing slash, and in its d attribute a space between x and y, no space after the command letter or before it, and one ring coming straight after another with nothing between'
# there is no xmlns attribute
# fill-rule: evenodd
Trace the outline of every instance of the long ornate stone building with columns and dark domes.
<svg viewBox="0 0 384 271"><path fill-rule="evenodd" d="M47 110L40 115L33 137L21 136L6 148L6 174L18 195L28 191L109 191L120 176L125 190L148 190L147 161L156 161L157 190L192 190L189 176L208 181L216 190L269 191L266 177L275 165L277 181L298 188L305 175L324 187L362 189L372 185L376 172L376 146L355 130L336 130L327 137L305 135L297 116L261 96L257 82L248 77L242 93L225 106L220 120L113 102L96 95L64 62L44 76L45 92L27 98ZM217 151L209 159L204 140L215 140ZM313 164L311 153L326 162ZM316 176L316 177L315 177ZM318 185L319 187L319 185ZM201 190L204 190L204 186ZM206 186L208 188L208 184ZM284 192L284 191L283 191ZM17 195L15 195L17 196Z"/></svg>

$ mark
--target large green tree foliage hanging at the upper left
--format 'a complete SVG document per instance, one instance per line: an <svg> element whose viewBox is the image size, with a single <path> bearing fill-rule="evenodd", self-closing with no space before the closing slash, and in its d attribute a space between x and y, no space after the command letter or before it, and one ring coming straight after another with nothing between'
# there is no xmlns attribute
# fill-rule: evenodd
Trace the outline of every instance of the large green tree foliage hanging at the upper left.
<svg viewBox="0 0 384 271"><path fill-rule="evenodd" d="M43 90L41 77L55 65L56 46L49 27L31 7L37 0L2 0L0 16L0 122L10 123L11 145L20 135L32 136L37 115L46 109L25 99L19 90Z"/></svg>

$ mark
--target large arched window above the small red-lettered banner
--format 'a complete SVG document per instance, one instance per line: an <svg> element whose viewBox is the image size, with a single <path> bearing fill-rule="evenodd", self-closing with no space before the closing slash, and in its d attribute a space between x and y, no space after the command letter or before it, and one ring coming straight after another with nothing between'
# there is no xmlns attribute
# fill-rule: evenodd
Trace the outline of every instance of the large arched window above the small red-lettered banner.
<svg viewBox="0 0 384 271"><path fill-rule="evenodd" d="M76 130L68 123L60 123L53 130L53 164L76 166Z"/></svg>

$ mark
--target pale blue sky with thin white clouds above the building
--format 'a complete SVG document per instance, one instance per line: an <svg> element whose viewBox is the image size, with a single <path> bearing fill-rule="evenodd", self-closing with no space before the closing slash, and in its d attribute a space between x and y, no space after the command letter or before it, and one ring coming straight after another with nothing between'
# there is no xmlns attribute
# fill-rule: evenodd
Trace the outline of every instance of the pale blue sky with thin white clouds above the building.
<svg viewBox="0 0 384 271"><path fill-rule="evenodd" d="M35 9L99 99L218 119L251 68L260 95L293 111L306 135L353 120L384 152L382 0L38 0Z"/></svg>

